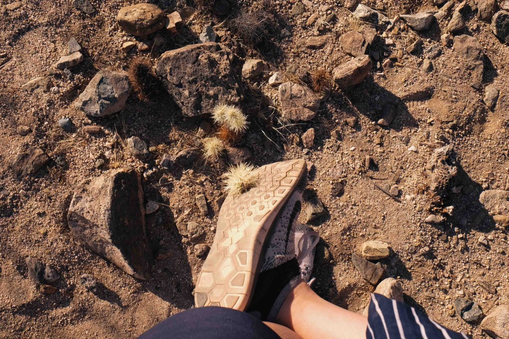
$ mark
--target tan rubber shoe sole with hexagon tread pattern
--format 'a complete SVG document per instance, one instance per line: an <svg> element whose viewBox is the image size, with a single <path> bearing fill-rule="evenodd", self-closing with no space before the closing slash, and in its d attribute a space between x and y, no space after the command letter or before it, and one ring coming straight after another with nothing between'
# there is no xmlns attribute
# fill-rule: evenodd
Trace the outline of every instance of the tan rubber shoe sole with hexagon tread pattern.
<svg viewBox="0 0 509 339"><path fill-rule="evenodd" d="M302 159L262 166L258 186L223 202L209 255L196 282L196 307L244 311L262 266L267 235L297 188L305 188ZM304 186L304 187L302 187Z"/></svg>

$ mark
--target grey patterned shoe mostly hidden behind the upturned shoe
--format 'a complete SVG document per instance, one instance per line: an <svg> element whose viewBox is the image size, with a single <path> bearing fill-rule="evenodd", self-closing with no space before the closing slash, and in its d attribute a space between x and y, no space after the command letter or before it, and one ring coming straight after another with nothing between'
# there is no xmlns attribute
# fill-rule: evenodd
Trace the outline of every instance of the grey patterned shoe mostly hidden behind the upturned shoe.
<svg viewBox="0 0 509 339"><path fill-rule="evenodd" d="M311 274L318 241L320 234L312 227L301 223L295 225L295 256L299 263L300 276L309 286L315 281L311 280Z"/></svg>

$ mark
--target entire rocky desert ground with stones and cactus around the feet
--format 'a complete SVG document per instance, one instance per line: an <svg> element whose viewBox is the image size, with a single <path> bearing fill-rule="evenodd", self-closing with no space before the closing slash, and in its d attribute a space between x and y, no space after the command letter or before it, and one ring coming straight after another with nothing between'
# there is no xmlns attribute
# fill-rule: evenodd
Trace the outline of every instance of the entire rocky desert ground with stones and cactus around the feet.
<svg viewBox="0 0 509 339"><path fill-rule="evenodd" d="M509 337L509 2L133 5L0 0L0 336L192 307L228 167L303 158L321 296Z"/></svg>

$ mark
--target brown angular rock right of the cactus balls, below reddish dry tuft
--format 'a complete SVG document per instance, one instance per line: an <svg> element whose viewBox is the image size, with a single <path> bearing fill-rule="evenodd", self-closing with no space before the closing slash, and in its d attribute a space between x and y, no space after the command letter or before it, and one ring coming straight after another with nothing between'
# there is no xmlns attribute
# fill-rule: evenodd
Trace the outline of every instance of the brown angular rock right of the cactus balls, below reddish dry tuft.
<svg viewBox="0 0 509 339"><path fill-rule="evenodd" d="M310 88L292 83L282 83L279 88L281 114L290 120L311 120L320 107L320 98Z"/></svg>

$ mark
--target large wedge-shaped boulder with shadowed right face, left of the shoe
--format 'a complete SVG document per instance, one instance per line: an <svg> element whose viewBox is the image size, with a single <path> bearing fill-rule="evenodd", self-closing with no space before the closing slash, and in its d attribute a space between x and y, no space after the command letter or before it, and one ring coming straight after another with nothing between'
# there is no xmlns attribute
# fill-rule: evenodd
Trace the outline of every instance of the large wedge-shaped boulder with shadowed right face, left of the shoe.
<svg viewBox="0 0 509 339"><path fill-rule="evenodd" d="M153 258L143 206L139 174L115 169L79 184L67 221L72 234L92 252L135 278L146 279Z"/></svg>

